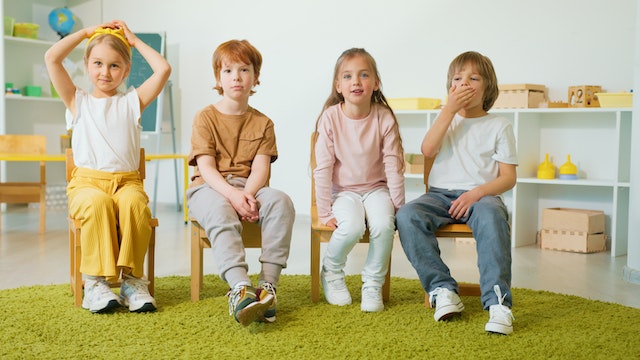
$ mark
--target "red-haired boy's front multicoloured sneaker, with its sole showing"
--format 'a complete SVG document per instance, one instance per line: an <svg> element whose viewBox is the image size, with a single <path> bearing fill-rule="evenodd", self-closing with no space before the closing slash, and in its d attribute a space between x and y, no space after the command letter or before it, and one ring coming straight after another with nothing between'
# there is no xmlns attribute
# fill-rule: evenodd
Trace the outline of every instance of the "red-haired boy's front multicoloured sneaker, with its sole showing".
<svg viewBox="0 0 640 360"><path fill-rule="evenodd" d="M233 315L242 326L262 319L265 312L273 304L273 295L258 297L253 286L239 284L229 290L229 315Z"/></svg>

